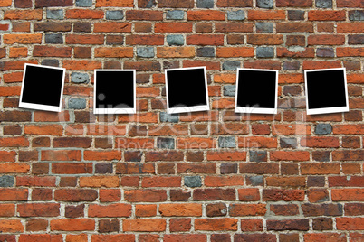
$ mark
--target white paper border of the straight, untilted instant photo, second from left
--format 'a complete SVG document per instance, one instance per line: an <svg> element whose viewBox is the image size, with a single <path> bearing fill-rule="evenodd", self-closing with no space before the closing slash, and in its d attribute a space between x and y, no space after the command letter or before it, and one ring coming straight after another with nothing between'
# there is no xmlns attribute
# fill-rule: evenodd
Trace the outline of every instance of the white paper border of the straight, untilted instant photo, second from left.
<svg viewBox="0 0 364 242"><path fill-rule="evenodd" d="M96 78L96 73L98 71L132 71L133 72L133 97L134 97L134 107L112 107L112 108L98 108L96 107L96 83L97 83L97 78ZM93 114L95 115L106 115L106 114L111 114L111 115L118 115L118 114L135 114L137 112L137 95L136 95L136 89L137 89L137 74L136 74L136 70L129 70L129 69L95 69L93 70L93 79L94 79L94 83L93 83ZM112 87L111 87L112 88Z"/></svg>

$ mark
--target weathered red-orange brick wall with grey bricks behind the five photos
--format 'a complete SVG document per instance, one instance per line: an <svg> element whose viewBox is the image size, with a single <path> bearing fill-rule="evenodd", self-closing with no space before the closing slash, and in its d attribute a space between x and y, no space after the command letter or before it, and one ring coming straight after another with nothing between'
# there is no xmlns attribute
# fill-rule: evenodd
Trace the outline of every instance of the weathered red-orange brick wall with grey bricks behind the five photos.
<svg viewBox="0 0 364 242"><path fill-rule="evenodd" d="M363 7L0 0L0 241L363 241ZM17 108L24 63L67 69L61 113ZM211 111L168 115L164 70L201 65ZM236 67L279 70L277 115L234 113ZM337 67L350 112L306 116L302 70ZM92 115L101 68L136 115Z"/></svg>

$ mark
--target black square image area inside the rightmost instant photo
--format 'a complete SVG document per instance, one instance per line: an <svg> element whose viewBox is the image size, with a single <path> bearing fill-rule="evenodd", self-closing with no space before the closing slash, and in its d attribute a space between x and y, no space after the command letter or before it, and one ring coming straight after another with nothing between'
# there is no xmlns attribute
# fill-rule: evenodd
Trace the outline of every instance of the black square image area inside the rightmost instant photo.
<svg viewBox="0 0 364 242"><path fill-rule="evenodd" d="M344 70L306 72L309 108L346 107Z"/></svg>

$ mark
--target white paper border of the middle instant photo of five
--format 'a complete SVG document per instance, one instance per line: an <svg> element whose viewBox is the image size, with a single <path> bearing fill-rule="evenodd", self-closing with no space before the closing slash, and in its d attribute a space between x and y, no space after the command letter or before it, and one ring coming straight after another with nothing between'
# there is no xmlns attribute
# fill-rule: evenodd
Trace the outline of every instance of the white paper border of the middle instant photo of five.
<svg viewBox="0 0 364 242"><path fill-rule="evenodd" d="M206 90L206 105L197 105L197 106L189 106L189 107L169 107L168 71L196 70L196 69L204 70L205 90ZM165 70L165 79L166 79L166 97L167 97L167 113L168 114L180 114L180 113L189 113L189 112L198 112L198 111L208 111L208 110L210 110L210 105L209 105L209 100L208 100L207 75L206 75L206 67L205 66L203 66L203 67L167 69L167 70Z"/></svg>

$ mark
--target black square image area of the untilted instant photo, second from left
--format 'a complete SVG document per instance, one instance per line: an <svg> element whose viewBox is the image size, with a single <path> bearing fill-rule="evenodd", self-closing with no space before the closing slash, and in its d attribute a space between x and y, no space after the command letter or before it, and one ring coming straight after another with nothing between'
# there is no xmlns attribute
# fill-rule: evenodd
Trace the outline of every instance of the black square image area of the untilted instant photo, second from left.
<svg viewBox="0 0 364 242"><path fill-rule="evenodd" d="M133 71L96 71L96 108L133 108Z"/></svg>

